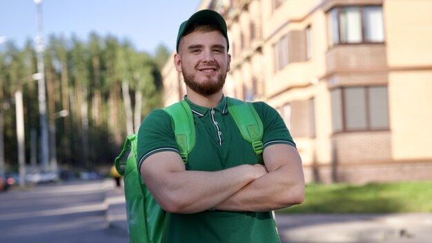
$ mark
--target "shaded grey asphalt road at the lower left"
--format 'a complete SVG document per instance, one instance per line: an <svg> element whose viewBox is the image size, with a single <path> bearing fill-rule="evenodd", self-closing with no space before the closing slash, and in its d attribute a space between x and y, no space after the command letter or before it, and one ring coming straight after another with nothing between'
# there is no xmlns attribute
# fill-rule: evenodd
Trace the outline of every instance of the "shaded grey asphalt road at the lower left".
<svg viewBox="0 0 432 243"><path fill-rule="evenodd" d="M128 242L108 227L101 182L46 184L0 193L0 242Z"/></svg>

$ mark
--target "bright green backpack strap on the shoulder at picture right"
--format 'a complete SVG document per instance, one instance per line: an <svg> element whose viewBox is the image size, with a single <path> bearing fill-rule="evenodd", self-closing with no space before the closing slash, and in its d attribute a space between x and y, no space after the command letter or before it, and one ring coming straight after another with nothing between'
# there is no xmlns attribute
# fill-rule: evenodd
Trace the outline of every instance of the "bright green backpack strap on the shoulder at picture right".
<svg viewBox="0 0 432 243"><path fill-rule="evenodd" d="M264 129L253 104L230 97L226 97L226 101L228 102L228 111L233 117L235 124L237 124L243 138L252 144L256 155L261 155L264 150L262 144Z"/></svg>

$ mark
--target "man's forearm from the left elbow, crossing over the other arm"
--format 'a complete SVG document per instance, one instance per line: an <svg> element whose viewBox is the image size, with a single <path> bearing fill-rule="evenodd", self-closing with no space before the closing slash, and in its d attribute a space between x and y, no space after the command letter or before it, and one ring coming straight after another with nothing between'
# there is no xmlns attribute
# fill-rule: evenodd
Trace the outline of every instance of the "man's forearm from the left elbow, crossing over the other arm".
<svg viewBox="0 0 432 243"><path fill-rule="evenodd" d="M264 173L251 165L215 172L172 171L150 181L148 188L166 211L197 213L220 204Z"/></svg>

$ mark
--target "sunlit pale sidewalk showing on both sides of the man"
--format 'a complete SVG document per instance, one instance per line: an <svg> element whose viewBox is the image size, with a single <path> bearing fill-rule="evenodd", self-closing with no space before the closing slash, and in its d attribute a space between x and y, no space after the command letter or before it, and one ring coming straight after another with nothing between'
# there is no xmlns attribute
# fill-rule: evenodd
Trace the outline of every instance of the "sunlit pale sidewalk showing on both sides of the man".
<svg viewBox="0 0 432 243"><path fill-rule="evenodd" d="M124 191L106 188L106 221L128 232ZM276 215L282 243L432 242L432 213Z"/></svg>

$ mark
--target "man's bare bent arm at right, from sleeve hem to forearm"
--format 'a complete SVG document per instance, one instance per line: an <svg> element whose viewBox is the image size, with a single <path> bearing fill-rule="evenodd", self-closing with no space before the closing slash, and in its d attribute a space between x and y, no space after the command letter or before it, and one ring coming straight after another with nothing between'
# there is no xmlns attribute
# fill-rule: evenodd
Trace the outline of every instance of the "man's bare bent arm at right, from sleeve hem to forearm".
<svg viewBox="0 0 432 243"><path fill-rule="evenodd" d="M274 144L264 149L268 173L255 179L215 208L226 211L268 211L304 200L302 159L293 146Z"/></svg>

